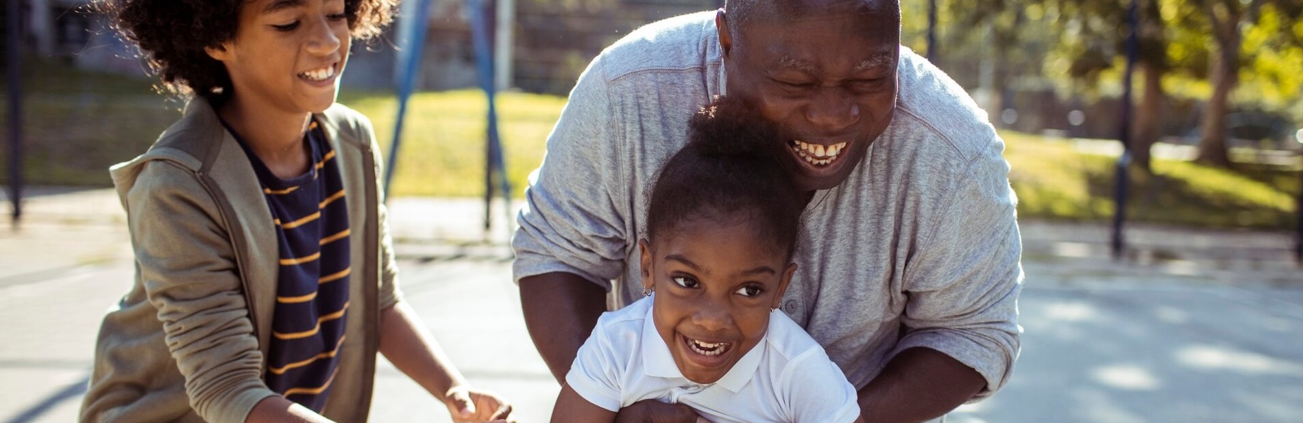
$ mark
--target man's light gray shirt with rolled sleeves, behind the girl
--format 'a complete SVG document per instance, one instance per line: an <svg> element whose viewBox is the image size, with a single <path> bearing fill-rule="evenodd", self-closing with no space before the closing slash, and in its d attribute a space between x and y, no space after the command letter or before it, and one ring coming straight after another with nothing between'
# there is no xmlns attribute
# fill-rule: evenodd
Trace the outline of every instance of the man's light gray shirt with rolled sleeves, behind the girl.
<svg viewBox="0 0 1303 423"><path fill-rule="evenodd" d="M688 118L723 94L721 69L713 12L650 23L593 60L530 176L517 281L575 273L610 289L616 308L638 295L649 190L687 143ZM782 310L856 389L923 346L977 370L988 396L1007 381L1022 331L1005 144L958 85L903 47L898 75L891 125L805 210Z"/></svg>

